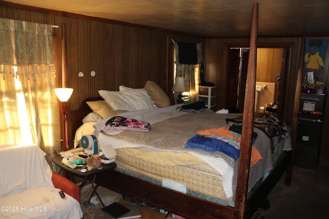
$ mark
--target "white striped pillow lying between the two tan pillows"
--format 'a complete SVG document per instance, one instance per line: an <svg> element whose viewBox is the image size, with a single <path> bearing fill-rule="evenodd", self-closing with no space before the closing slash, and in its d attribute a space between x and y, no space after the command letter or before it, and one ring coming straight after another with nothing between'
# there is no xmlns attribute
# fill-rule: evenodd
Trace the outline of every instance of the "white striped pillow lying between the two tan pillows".
<svg viewBox="0 0 329 219"><path fill-rule="evenodd" d="M137 111L155 108L150 95L143 88L133 89L122 86L121 89L123 90L98 92L114 110Z"/></svg>

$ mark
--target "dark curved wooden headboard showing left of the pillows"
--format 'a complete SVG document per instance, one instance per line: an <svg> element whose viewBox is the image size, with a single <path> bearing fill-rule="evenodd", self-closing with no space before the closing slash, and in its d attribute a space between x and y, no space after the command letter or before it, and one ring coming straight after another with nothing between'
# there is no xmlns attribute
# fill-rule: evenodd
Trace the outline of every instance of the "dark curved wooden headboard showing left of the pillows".
<svg viewBox="0 0 329 219"><path fill-rule="evenodd" d="M89 101L103 101L104 99L100 96L89 97L83 100L80 107L76 110L67 110L67 144L68 149L74 147L74 137L76 130L82 125L82 119L90 112L92 109L88 106Z"/></svg>

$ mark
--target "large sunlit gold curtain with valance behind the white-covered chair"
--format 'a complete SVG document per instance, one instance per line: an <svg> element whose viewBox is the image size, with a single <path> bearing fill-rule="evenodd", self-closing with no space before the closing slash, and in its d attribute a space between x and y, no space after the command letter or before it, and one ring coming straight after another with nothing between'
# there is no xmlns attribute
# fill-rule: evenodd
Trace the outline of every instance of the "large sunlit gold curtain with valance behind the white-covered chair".
<svg viewBox="0 0 329 219"><path fill-rule="evenodd" d="M20 81L28 117L23 130L31 130L50 166L61 151L55 76L52 25L0 18L0 144L26 143L15 82Z"/></svg>

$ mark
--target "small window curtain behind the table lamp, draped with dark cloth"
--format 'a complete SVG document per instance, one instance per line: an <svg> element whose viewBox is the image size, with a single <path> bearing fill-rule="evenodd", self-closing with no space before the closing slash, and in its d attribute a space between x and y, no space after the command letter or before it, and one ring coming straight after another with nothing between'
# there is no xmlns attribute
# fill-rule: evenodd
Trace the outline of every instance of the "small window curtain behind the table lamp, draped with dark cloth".
<svg viewBox="0 0 329 219"><path fill-rule="evenodd" d="M198 66L199 63L202 62L202 51L201 46L202 44L196 43L191 44L192 46L195 45L196 47L196 63L195 64L185 64L179 61L179 43L174 43L175 49L175 59L176 59L176 73L175 77L182 76L185 78L186 86L189 89L189 98L191 102L197 101L197 93L198 93ZM186 49L184 49L186 50ZM186 52L191 52L190 50L186 50ZM181 55L181 53L180 53ZM192 57L191 59L193 59ZM191 61L191 59L189 61ZM188 62L192 63L192 62ZM177 99L178 93L175 92L175 99Z"/></svg>

